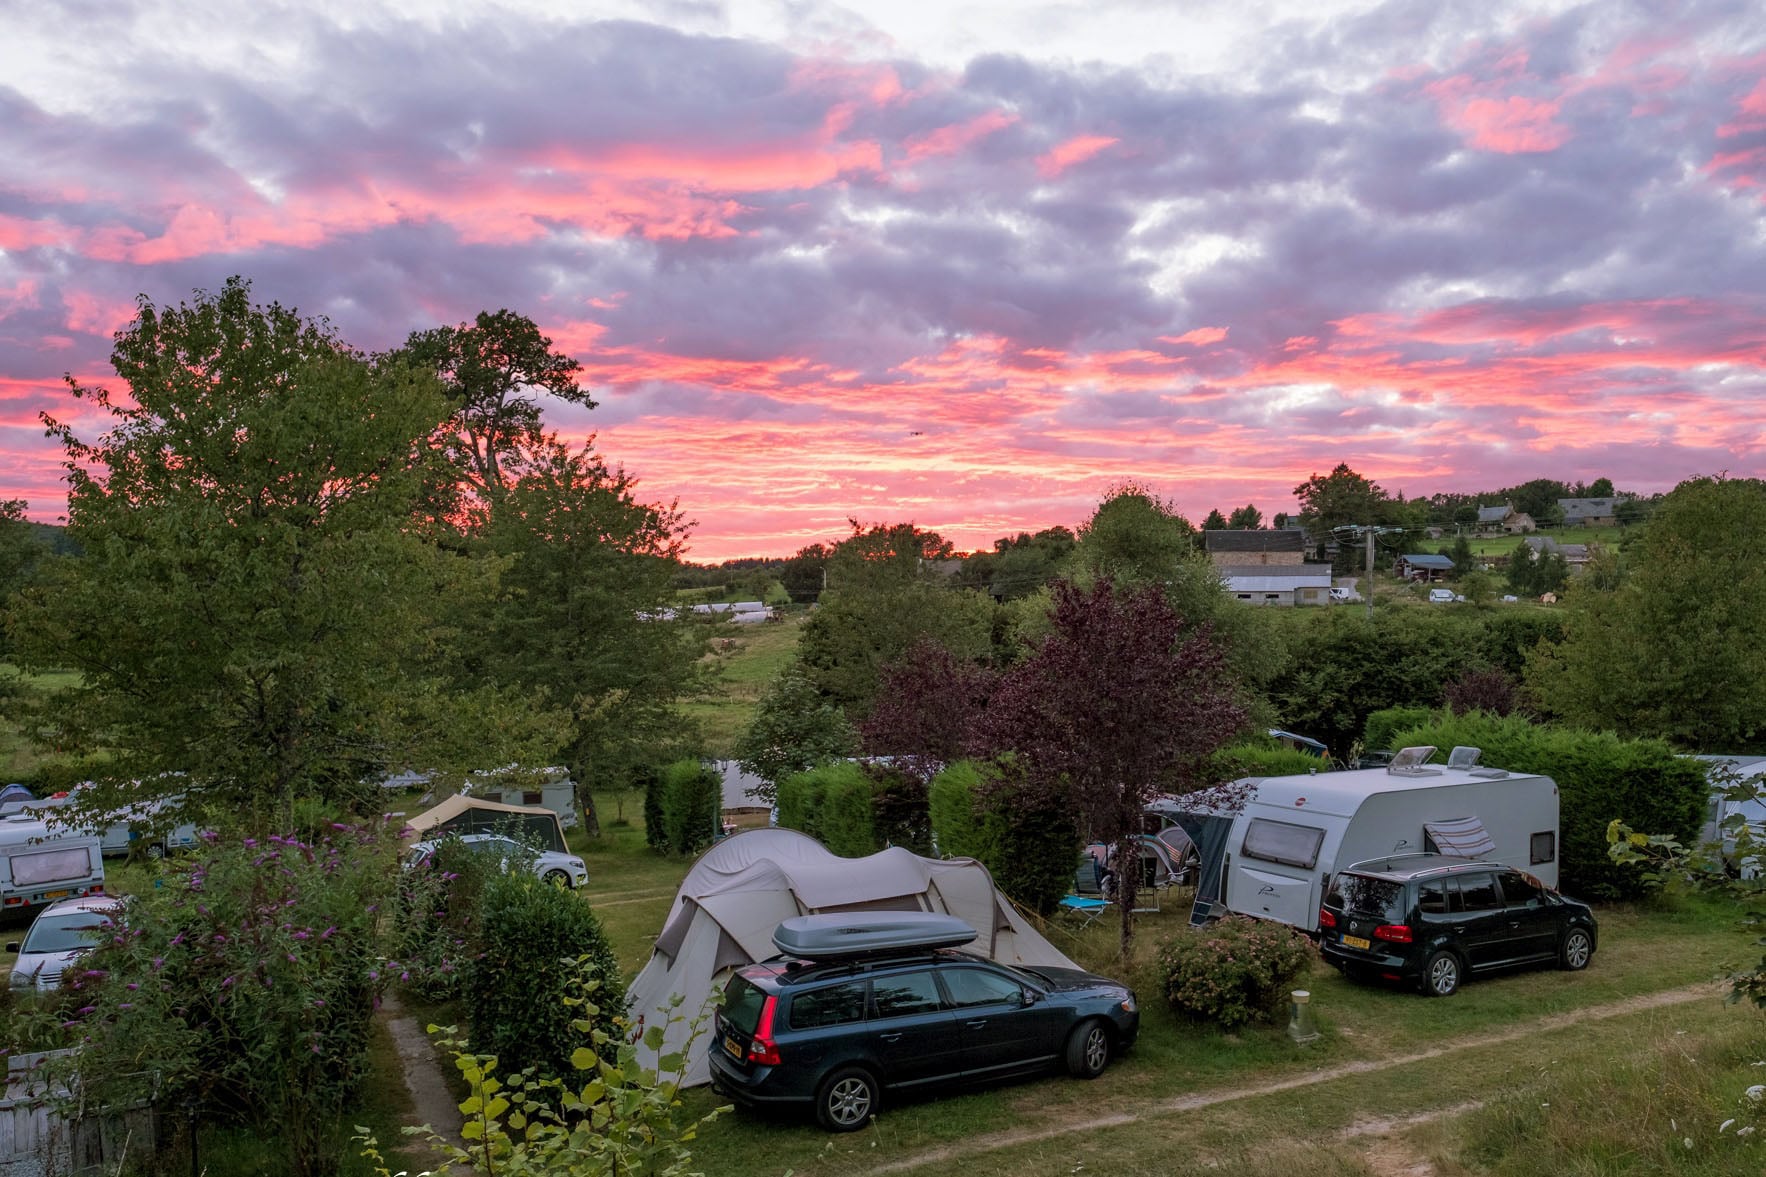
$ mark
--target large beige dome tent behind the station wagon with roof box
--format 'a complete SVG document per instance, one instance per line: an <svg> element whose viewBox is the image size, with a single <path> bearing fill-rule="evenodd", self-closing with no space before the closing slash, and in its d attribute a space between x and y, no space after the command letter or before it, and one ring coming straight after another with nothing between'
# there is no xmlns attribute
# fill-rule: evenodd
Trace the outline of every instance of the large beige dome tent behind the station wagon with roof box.
<svg viewBox="0 0 1766 1177"><path fill-rule="evenodd" d="M943 912L980 935L968 951L1007 965L1077 968L1031 928L975 859L922 859L892 847L867 859L835 857L793 829L752 829L705 852L669 908L650 963L625 997L630 1016L655 1025L669 999L685 1000L689 1020L705 1009L731 968L777 956L772 933L781 921L811 912ZM680 1050L687 1027L669 1027L660 1053ZM710 1082L705 1037L687 1060L687 1085ZM657 1055L639 1050L646 1066Z"/></svg>

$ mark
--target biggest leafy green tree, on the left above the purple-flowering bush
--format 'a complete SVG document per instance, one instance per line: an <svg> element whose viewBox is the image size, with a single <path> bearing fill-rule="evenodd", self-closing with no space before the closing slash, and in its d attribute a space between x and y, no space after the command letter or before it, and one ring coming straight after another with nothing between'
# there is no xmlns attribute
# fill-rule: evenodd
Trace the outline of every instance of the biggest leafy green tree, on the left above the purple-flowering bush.
<svg viewBox="0 0 1766 1177"><path fill-rule="evenodd" d="M433 375L371 362L240 279L143 297L111 364L125 396L69 380L102 437L44 417L83 555L25 594L18 634L28 664L81 673L58 742L260 822L415 755L521 753L533 712L422 673L431 603L489 569L411 525L449 414Z"/></svg>

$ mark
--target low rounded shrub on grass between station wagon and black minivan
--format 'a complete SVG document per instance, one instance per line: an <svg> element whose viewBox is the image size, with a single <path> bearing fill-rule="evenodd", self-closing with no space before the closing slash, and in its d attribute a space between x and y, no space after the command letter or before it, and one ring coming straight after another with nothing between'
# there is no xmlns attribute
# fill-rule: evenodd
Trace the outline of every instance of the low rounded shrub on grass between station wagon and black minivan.
<svg viewBox="0 0 1766 1177"><path fill-rule="evenodd" d="M1178 931L1157 956L1171 1007L1227 1030L1270 1020L1312 960L1312 942L1302 933L1241 915Z"/></svg>

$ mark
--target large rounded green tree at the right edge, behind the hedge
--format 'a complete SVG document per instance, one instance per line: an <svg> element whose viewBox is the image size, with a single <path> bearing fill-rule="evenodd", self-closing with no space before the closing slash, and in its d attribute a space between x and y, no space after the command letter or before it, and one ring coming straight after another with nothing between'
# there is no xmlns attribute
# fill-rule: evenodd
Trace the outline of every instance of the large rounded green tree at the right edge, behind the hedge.
<svg viewBox="0 0 1766 1177"><path fill-rule="evenodd" d="M1688 751L1766 748L1766 481L1701 477L1669 493L1611 592L1582 590L1528 687L1582 726Z"/></svg>

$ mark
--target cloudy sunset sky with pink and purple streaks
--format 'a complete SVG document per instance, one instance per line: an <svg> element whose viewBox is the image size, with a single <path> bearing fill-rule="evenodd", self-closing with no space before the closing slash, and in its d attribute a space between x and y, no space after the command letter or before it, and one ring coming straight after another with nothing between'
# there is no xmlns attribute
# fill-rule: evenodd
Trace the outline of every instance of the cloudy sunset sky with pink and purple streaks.
<svg viewBox="0 0 1766 1177"><path fill-rule="evenodd" d="M0 0L0 498L134 299L510 308L692 557L1766 475L1759 0ZM76 421L78 415L74 415ZM88 421L92 428L101 422ZM88 429L90 431L90 429Z"/></svg>

